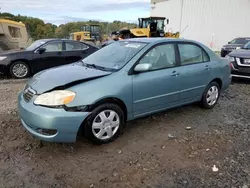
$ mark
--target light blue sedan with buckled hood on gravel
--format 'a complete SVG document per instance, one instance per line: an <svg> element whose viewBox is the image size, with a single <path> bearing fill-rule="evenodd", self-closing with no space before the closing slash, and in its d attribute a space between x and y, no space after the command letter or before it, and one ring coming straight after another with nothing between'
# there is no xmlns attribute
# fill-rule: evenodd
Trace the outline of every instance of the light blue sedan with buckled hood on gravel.
<svg viewBox="0 0 250 188"><path fill-rule="evenodd" d="M140 38L36 74L19 94L21 122L49 142L116 139L127 121L200 101L207 109L231 83L229 63L201 43Z"/></svg>

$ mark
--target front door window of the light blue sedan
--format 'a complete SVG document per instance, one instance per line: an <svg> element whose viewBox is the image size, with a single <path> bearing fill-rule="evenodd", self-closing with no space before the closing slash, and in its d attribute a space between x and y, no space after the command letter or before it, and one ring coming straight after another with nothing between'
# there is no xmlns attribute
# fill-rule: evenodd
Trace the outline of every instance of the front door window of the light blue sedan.
<svg viewBox="0 0 250 188"><path fill-rule="evenodd" d="M151 64L150 70L170 68L176 66L174 44L164 44L151 49L139 62Z"/></svg>

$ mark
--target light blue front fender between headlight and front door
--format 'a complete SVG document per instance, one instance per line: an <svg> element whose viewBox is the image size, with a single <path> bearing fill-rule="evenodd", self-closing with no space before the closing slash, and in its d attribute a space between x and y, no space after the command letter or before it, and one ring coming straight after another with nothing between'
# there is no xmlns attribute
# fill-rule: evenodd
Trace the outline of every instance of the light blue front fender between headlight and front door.
<svg viewBox="0 0 250 188"><path fill-rule="evenodd" d="M76 93L75 99L67 107L92 105L108 98L117 98L132 112L132 76L119 71L107 77L80 83L68 88Z"/></svg>

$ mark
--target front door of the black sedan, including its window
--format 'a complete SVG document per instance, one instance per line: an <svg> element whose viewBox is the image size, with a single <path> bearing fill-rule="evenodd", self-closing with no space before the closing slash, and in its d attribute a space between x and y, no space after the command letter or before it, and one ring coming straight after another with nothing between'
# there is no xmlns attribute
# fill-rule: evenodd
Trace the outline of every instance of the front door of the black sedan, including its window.
<svg viewBox="0 0 250 188"><path fill-rule="evenodd" d="M64 64L65 58L63 56L62 47L63 45L61 41L53 41L41 46L41 48L45 49L43 53L39 53L38 51L34 52L32 62L34 67L33 72L37 73Z"/></svg>

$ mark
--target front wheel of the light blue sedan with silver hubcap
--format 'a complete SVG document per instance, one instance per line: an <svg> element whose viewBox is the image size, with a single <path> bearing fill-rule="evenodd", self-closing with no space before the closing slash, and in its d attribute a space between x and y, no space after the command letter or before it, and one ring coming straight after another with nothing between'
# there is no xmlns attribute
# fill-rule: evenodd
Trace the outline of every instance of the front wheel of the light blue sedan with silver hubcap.
<svg viewBox="0 0 250 188"><path fill-rule="evenodd" d="M119 137L124 121L124 112L118 105L101 104L85 120L84 134L94 144L106 144Z"/></svg>

